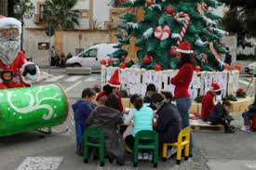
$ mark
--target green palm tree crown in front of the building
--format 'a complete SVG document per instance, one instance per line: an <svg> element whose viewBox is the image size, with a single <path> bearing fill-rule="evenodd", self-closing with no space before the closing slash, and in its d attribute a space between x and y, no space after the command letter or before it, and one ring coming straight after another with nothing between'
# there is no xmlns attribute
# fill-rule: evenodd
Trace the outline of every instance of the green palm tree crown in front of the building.
<svg viewBox="0 0 256 170"><path fill-rule="evenodd" d="M47 0L47 28L74 30L79 26L80 11L74 9L77 0Z"/></svg>

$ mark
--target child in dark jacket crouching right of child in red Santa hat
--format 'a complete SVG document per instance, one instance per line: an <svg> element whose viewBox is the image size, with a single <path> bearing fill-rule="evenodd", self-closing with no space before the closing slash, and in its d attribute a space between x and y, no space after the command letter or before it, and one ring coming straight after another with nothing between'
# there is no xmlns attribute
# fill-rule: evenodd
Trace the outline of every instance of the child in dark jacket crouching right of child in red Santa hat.
<svg viewBox="0 0 256 170"><path fill-rule="evenodd" d="M234 119L229 115L231 103L228 100L219 102L208 117L208 124L218 125L222 124L225 127L225 133L234 133L235 127L230 125Z"/></svg>

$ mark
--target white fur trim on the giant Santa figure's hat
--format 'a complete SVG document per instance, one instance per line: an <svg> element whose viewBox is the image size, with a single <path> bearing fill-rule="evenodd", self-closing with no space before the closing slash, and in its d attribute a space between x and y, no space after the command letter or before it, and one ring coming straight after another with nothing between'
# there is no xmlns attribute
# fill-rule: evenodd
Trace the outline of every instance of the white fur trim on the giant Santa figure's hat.
<svg viewBox="0 0 256 170"><path fill-rule="evenodd" d="M19 34L21 33L21 22L14 18L8 18L0 15L0 29L8 28L9 26L15 26L19 29Z"/></svg>

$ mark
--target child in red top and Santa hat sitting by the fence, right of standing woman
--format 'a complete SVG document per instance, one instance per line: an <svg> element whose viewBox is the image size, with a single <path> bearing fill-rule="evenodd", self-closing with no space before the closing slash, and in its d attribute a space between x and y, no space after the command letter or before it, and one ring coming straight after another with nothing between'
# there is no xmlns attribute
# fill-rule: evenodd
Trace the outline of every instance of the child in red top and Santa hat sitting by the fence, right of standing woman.
<svg viewBox="0 0 256 170"><path fill-rule="evenodd" d="M207 122L207 119L209 117L209 114L213 110L215 104L214 104L214 98L216 95L221 95L222 90L221 86L217 83L212 83L211 89L207 94L204 96L202 100L202 111L201 111L201 119L205 122Z"/></svg>

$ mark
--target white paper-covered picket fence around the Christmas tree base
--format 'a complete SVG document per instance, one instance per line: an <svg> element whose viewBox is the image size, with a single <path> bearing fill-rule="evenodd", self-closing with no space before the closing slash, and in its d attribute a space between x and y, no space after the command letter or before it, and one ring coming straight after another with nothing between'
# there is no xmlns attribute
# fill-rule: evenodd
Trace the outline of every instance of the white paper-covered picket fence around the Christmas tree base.
<svg viewBox="0 0 256 170"><path fill-rule="evenodd" d="M174 85L170 84L170 79L174 77L178 70L167 70L161 72L146 71L144 69L120 69L114 67L101 68L101 85L106 85L115 69L119 70L119 78L122 84L121 89L127 90L129 95L145 95L146 86L154 84L158 92L174 92ZM193 99L205 95L212 82L217 82L222 87L222 97L235 95L238 88L239 72L194 72L193 80L190 85L190 92Z"/></svg>

